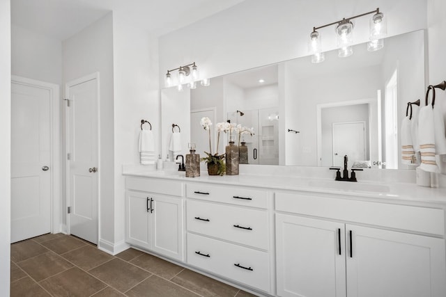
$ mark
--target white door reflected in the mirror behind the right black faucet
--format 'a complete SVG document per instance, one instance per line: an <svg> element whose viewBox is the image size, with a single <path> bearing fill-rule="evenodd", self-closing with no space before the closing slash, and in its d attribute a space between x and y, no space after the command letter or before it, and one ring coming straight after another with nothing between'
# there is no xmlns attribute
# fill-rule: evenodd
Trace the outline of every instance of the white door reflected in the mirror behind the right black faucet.
<svg viewBox="0 0 446 297"><path fill-rule="evenodd" d="M348 156L348 166L355 161L364 161L365 122L334 122L333 130L333 166L344 166L344 156Z"/></svg>

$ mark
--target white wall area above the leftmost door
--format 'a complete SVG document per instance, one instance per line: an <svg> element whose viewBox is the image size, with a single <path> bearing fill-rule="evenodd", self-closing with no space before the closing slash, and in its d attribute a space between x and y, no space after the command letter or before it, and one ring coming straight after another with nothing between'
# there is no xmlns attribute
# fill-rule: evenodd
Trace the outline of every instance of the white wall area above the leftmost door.
<svg viewBox="0 0 446 297"><path fill-rule="evenodd" d="M12 74L61 84L62 42L11 26Z"/></svg>

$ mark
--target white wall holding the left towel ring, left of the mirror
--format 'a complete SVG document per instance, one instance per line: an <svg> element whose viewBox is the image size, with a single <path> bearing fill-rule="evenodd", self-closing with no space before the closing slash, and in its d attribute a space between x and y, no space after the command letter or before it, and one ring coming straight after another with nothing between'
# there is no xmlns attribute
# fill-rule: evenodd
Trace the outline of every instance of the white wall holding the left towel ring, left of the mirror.
<svg viewBox="0 0 446 297"><path fill-rule="evenodd" d="M160 92L158 81L157 39L146 31L130 26L124 16L113 17L114 54L114 252L124 244L124 177L123 164L139 163L137 149L141 120L148 120L157 141L160 141ZM159 144L159 143L158 143ZM112 165L113 166L113 165ZM102 229L106 227L102 223Z"/></svg>

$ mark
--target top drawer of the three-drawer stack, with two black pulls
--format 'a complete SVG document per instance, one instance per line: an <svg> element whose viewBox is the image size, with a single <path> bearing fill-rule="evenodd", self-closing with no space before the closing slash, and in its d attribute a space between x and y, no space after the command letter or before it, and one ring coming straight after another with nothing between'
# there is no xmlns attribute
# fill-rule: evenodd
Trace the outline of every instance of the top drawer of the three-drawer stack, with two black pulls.
<svg viewBox="0 0 446 297"><path fill-rule="evenodd" d="M202 199L245 205L249 207L268 208L268 192L251 188L215 186L212 184L186 184L188 198Z"/></svg>

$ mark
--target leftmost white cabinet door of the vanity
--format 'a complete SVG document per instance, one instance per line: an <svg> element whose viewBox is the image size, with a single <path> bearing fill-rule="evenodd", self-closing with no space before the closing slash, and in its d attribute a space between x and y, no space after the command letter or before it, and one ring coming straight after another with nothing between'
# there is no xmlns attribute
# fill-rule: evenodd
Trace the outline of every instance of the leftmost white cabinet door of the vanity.
<svg viewBox="0 0 446 297"><path fill-rule="evenodd" d="M127 191L125 195L125 240L141 248L150 248L150 196L148 193Z"/></svg>

